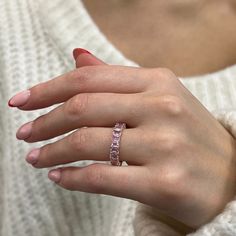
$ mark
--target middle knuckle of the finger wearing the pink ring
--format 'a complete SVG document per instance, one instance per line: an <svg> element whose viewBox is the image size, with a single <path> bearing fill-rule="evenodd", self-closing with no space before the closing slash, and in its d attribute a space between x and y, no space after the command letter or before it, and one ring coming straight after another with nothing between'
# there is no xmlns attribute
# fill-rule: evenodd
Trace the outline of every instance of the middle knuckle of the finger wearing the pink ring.
<svg viewBox="0 0 236 236"><path fill-rule="evenodd" d="M72 150L82 152L88 143L89 133L87 129L80 129L69 136L69 144Z"/></svg>

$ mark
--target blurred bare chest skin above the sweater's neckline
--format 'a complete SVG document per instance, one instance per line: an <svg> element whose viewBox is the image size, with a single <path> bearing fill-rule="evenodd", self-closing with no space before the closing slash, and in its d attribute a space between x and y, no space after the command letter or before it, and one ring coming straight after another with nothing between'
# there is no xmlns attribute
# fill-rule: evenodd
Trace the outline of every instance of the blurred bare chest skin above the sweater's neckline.
<svg viewBox="0 0 236 236"><path fill-rule="evenodd" d="M142 67L191 76L236 63L235 0L83 2L106 37Z"/></svg>

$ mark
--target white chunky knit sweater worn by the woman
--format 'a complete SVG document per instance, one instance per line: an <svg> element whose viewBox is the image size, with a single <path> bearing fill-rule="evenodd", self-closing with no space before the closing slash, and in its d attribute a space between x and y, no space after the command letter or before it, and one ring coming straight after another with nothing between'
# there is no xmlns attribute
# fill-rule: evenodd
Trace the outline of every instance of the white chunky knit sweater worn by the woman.
<svg viewBox="0 0 236 236"><path fill-rule="evenodd" d="M16 139L16 130L54 106L23 112L8 108L7 101L17 92L72 70L76 47L90 50L109 64L138 66L107 40L79 0L0 1L0 235L179 235L155 220L147 206L70 192L48 180L48 169L34 169L26 163L31 148L63 136L29 144ZM236 137L236 65L180 80ZM190 235L235 236L236 199Z"/></svg>

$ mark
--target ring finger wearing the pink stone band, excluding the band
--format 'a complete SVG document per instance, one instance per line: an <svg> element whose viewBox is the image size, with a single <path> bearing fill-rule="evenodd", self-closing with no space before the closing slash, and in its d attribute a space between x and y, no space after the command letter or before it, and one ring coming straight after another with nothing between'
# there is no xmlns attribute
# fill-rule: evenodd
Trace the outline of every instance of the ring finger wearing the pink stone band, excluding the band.
<svg viewBox="0 0 236 236"><path fill-rule="evenodd" d="M140 131L136 128L124 129L120 140L120 161L141 165L145 162L142 151ZM81 128L66 137L31 150L26 161L34 167L44 168L80 160L109 161L112 142L111 128Z"/></svg>

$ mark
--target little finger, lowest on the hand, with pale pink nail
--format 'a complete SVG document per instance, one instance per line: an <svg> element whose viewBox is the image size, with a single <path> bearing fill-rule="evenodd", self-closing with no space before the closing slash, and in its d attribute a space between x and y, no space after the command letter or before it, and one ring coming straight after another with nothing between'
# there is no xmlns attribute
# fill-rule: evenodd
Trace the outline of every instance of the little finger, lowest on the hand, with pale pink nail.
<svg viewBox="0 0 236 236"><path fill-rule="evenodd" d="M68 190L133 200L145 197L145 176L147 174L142 166L111 166L102 163L93 163L85 167L61 167L48 173L49 179Z"/></svg>

